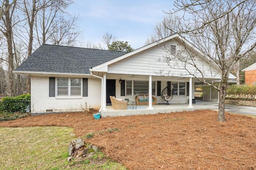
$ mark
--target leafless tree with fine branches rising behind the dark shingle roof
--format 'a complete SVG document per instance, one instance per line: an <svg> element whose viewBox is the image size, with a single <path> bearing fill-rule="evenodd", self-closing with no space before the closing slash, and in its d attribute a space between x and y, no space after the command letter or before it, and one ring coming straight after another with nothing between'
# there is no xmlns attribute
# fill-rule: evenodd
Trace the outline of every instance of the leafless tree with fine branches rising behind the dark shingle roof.
<svg viewBox="0 0 256 170"><path fill-rule="evenodd" d="M47 6L48 1L52 4ZM44 6L36 16L36 37L38 44L74 46L81 32L76 22L79 16L72 16L65 9L73 3L72 0L43 0Z"/></svg>

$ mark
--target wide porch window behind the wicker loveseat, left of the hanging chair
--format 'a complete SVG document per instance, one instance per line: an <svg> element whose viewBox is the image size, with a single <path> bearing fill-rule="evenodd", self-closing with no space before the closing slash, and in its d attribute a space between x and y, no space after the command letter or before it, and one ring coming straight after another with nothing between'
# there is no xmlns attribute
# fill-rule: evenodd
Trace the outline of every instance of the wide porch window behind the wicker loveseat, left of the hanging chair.
<svg viewBox="0 0 256 170"><path fill-rule="evenodd" d="M126 95L148 95L149 81L126 80ZM156 81L152 81L152 95L156 95Z"/></svg>

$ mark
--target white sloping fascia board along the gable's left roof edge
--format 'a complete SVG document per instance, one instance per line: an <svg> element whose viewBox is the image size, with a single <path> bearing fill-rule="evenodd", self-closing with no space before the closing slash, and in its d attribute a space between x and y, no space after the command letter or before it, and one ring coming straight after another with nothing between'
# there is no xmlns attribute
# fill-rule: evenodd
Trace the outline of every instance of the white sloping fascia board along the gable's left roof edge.
<svg viewBox="0 0 256 170"><path fill-rule="evenodd" d="M151 48L151 47L154 47L154 46L156 46L156 45L158 45L158 44L160 44L160 43L163 43L163 42L166 42L166 41L168 41L168 40L171 40L172 38L178 38L178 37L179 37L178 34L173 34L172 36L163 38L163 39L158 40L158 41L156 41L156 42L154 42L154 43L150 43L150 44L148 44L148 45L145 45L145 46L143 46L143 47L140 47L140 48L138 48L138 49L135 49L134 51L131 51L130 53L126 53L126 54L124 54L124 55L121 55L120 57L116 57L115 59L112 59L112 60L110 60L110 61L107 61L107 62L105 62L105 63L102 63L102 64L100 64L100 65L97 65L97 66L95 66L95 67L92 67L92 71L98 71L98 69L104 68L105 66L108 66L108 65L110 65L110 64L112 64L112 63L115 63L115 62L117 62L117 61L120 61L120 60L122 60L122 59L125 59L126 57L129 57L129 56L131 56L131 55L134 55L134 54L136 54L136 53L139 53L139 52L144 51L144 50L146 50L146 49L149 49L149 48Z"/></svg>

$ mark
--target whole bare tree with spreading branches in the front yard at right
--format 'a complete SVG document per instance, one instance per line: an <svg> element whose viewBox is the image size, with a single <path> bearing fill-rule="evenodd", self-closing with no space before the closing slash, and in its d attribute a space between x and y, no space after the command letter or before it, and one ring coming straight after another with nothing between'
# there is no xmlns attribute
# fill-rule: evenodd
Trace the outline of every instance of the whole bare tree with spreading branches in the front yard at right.
<svg viewBox="0 0 256 170"><path fill-rule="evenodd" d="M178 33L187 35L192 42L195 42L196 47L203 52L212 67L220 70L220 87L207 81L204 72L211 70L204 70L203 66L199 67L194 58L195 53L190 52L190 49L186 50L186 55L180 55L182 57L176 55L172 59L177 63L181 62L182 68L186 69L188 74L193 75L202 83L211 85L219 92L218 121L223 122L225 121L225 97L230 71L239 59L246 57L256 47L256 1L177 0L174 5L177 8L174 12L184 11L184 16L179 18ZM190 19L184 22L187 15ZM196 73L188 69L191 66L196 68ZM212 73L212 75L216 74Z"/></svg>

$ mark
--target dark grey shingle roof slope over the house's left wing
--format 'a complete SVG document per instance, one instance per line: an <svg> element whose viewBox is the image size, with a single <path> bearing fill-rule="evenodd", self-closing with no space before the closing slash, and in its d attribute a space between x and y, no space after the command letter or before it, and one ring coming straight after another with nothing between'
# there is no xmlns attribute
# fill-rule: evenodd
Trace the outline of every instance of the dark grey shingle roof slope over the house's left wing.
<svg viewBox="0 0 256 170"><path fill-rule="evenodd" d="M124 55L126 52L41 45L15 71L90 73L89 69Z"/></svg>

